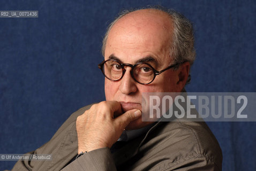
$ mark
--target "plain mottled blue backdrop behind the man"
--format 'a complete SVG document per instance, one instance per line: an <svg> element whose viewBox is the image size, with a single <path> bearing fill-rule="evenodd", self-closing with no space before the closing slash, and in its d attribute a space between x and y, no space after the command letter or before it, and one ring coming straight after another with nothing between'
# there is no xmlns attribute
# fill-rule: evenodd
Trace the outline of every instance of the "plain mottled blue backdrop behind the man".
<svg viewBox="0 0 256 171"><path fill-rule="evenodd" d="M193 22L197 60L187 91L256 92L255 1L1 1L0 153L40 147L80 107L104 100L97 68L107 25L121 9L161 4ZM255 122L208 122L223 170L256 170ZM11 169L15 161L0 161Z"/></svg>

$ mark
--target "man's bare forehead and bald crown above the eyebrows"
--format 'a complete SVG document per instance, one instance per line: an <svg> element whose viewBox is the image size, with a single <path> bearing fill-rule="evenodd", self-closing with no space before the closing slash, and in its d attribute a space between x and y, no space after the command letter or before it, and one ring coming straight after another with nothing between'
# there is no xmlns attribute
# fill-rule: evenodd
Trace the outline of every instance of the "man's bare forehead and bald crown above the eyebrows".
<svg viewBox="0 0 256 171"><path fill-rule="evenodd" d="M146 56L161 60L169 57L171 35L172 22L166 13L140 10L126 14L109 32L105 59L114 55L121 60Z"/></svg>

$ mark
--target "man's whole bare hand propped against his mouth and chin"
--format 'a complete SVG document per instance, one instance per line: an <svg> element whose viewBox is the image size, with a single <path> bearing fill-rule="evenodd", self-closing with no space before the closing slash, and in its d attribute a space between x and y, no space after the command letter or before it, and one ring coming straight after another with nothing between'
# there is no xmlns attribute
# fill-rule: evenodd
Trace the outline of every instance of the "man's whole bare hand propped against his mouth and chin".
<svg viewBox="0 0 256 171"><path fill-rule="evenodd" d="M121 104L104 101L77 117L78 153L111 147L129 123L141 116L133 109L122 114Z"/></svg>

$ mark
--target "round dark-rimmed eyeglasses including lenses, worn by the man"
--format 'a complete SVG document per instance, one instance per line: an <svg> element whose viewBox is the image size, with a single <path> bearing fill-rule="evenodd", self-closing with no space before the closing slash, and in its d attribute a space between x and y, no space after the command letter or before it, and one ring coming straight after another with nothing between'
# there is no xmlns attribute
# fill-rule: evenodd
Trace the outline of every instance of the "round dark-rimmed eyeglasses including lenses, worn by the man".
<svg viewBox="0 0 256 171"><path fill-rule="evenodd" d="M156 75L161 74L162 72L166 71L167 69L176 67L181 63L177 63L171 65L161 71L156 71L151 65L147 63L137 63L135 65L132 64L121 64L115 59L108 59L103 60L99 64L99 68L101 69L104 76L111 81L118 81L121 80L125 74L125 66L130 66L132 69L130 71L132 78L140 83L140 84L150 84L154 81Z"/></svg>

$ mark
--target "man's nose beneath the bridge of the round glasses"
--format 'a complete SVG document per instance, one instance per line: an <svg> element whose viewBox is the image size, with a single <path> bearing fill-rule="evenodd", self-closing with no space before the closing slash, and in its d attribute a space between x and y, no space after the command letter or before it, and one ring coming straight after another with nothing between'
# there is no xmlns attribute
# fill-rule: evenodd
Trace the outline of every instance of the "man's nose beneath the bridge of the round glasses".
<svg viewBox="0 0 256 171"><path fill-rule="evenodd" d="M134 92L137 91L137 86L136 86L136 82L133 80L132 76L131 76L131 67L125 67L126 71L125 74L123 76L123 78L120 80L120 86L119 86L119 90L122 92L122 94L125 95L130 95Z"/></svg>

